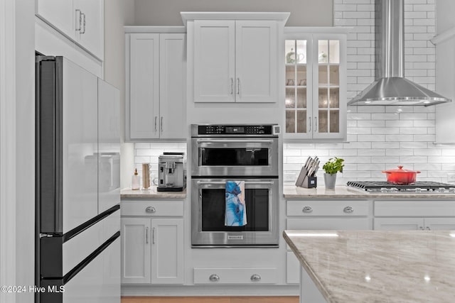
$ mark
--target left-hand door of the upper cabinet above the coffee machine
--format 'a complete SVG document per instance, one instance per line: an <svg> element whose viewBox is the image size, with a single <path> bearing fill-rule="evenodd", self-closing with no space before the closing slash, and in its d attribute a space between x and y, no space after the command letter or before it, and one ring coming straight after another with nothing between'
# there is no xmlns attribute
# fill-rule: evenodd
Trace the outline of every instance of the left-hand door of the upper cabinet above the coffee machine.
<svg viewBox="0 0 455 303"><path fill-rule="evenodd" d="M129 135L159 138L159 34L130 35Z"/></svg>

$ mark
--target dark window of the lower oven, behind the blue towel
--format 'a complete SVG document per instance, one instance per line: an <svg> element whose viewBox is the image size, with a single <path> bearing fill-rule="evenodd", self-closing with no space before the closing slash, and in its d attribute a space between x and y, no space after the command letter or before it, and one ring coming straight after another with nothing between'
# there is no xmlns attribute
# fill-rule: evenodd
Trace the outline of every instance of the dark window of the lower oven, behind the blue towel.
<svg viewBox="0 0 455 303"><path fill-rule="evenodd" d="M202 231L269 231L269 189L245 189L246 226L225 226L225 189L202 189Z"/></svg>

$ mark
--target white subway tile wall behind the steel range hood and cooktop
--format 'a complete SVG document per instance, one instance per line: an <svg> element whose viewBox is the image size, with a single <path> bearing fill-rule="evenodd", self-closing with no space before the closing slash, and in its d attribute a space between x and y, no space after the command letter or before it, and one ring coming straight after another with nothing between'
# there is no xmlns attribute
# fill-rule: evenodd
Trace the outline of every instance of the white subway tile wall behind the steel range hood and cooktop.
<svg viewBox="0 0 455 303"><path fill-rule="evenodd" d="M438 0L440 1L440 0ZM348 99L374 80L374 0L336 0L335 26L353 26L348 36ZM435 87L434 0L405 0L405 77ZM420 170L417 180L446 182L455 171L455 149L434 145L435 107L348 106L348 143L284 146L284 177L294 181L302 162L319 155L346 160L337 184L385 180L382 170L404 165ZM322 165L321 165L322 167ZM323 183L322 168L318 172Z"/></svg>

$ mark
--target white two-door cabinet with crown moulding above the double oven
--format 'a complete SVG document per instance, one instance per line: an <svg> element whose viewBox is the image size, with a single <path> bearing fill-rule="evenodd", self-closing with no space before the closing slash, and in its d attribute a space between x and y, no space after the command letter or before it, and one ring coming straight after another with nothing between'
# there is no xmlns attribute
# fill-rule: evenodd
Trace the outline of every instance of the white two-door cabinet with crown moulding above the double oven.
<svg viewBox="0 0 455 303"><path fill-rule="evenodd" d="M289 13L182 13L194 102L277 102L279 28Z"/></svg>

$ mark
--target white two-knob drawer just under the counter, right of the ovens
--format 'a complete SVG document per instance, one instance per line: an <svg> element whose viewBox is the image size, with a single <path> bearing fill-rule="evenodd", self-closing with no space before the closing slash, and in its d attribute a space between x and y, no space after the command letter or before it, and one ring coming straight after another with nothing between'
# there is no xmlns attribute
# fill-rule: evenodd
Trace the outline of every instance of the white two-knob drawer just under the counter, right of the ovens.
<svg viewBox="0 0 455 303"><path fill-rule="evenodd" d="M368 216L368 201L287 201L287 216Z"/></svg>

